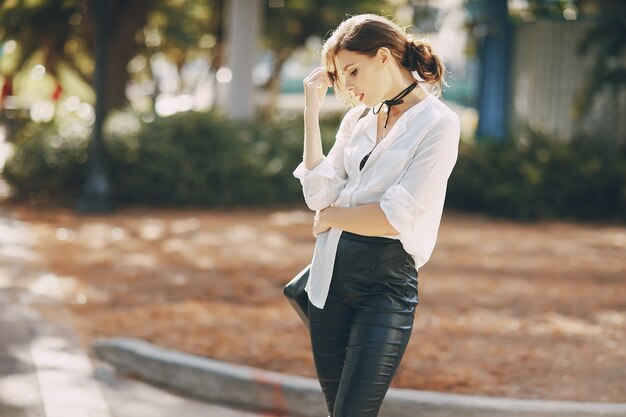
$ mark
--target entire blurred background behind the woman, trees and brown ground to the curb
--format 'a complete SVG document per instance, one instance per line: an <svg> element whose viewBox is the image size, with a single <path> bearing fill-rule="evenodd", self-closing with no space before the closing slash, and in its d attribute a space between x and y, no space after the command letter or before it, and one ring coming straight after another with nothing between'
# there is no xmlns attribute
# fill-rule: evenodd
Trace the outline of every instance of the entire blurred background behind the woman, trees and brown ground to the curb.
<svg viewBox="0 0 626 417"><path fill-rule="evenodd" d="M282 297L314 241L302 80L367 12L432 44L462 121L394 386L625 402L623 0L4 0L0 295L83 345L314 377Z"/></svg>

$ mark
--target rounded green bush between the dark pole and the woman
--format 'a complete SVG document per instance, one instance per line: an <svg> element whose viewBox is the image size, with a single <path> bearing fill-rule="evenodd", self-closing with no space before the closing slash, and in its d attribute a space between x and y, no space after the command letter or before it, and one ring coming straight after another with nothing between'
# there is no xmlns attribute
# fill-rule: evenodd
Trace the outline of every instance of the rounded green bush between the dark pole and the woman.
<svg viewBox="0 0 626 417"><path fill-rule="evenodd" d="M301 157L297 131L294 123L257 126L210 113L157 119L143 126L126 159L112 158L118 200L202 206L293 201L297 189L285 177Z"/></svg>

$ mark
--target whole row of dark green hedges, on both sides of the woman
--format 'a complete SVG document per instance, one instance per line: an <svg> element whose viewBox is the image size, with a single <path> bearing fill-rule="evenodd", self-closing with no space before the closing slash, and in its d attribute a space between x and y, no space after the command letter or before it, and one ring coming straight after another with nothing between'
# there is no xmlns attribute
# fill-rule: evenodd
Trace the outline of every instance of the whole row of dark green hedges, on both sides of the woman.
<svg viewBox="0 0 626 417"><path fill-rule="evenodd" d="M325 150L338 124L339 118L322 123ZM119 204L302 201L292 176L302 158L301 118L231 122L215 113L188 112L135 125L107 129L106 162ZM88 138L82 124L23 127L4 172L16 198L74 204L87 173ZM626 146L539 136L463 144L446 206L520 220L624 221Z"/></svg>

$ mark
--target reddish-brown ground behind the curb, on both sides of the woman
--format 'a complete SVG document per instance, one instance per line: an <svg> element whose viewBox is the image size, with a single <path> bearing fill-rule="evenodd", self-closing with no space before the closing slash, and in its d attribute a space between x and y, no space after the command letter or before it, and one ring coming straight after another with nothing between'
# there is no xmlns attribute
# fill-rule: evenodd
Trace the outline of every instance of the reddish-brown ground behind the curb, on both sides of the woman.
<svg viewBox="0 0 626 417"><path fill-rule="evenodd" d="M144 339L314 377L282 295L311 257L311 215L13 207L61 284L85 344ZM58 288L58 286L57 286ZM626 401L626 226L519 224L446 213L393 386Z"/></svg>

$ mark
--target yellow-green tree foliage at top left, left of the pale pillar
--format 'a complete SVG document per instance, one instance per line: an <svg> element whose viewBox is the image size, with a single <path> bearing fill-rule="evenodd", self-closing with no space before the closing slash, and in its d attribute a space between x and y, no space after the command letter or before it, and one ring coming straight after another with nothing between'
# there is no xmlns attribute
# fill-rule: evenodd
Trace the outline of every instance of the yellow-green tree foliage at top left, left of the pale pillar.
<svg viewBox="0 0 626 417"><path fill-rule="evenodd" d="M8 40L18 43L15 53L0 55L0 72L9 75L28 72L33 63L41 63L46 73L63 84L67 94L71 94L72 87L67 80L73 77L92 85L96 3L88 0L0 2L0 44ZM127 103L125 89L131 77L127 65L137 55L149 58L159 53L175 64L196 56L216 60L218 48L204 48L199 43L204 34L222 39L224 4L224 0L107 2L111 17L107 36L109 44L115 46L108 52L107 109L121 108ZM152 36L152 41L146 42L146 33L151 34L148 36ZM158 34L156 43L155 34ZM146 76L152 74L144 70L140 78Z"/></svg>

